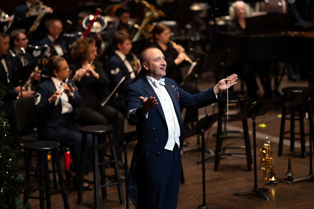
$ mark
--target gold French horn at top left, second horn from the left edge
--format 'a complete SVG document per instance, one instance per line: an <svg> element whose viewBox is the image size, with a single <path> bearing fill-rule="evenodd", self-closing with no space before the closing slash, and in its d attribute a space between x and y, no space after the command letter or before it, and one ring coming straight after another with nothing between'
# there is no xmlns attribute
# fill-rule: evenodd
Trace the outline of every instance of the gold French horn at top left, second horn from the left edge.
<svg viewBox="0 0 314 209"><path fill-rule="evenodd" d="M30 29L27 32L27 36L31 33L33 33L39 26L41 19L44 17L46 14L46 9L48 8L46 5L44 5L40 0L36 0L39 4L33 6L30 8L30 10L26 13L26 17L31 17L31 16L37 16L34 23L30 27Z"/></svg>

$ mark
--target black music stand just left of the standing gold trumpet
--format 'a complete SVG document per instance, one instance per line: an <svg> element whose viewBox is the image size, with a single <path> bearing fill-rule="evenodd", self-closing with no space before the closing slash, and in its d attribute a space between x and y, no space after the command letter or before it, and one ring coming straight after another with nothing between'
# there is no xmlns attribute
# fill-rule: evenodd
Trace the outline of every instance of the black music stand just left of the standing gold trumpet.
<svg viewBox="0 0 314 209"><path fill-rule="evenodd" d="M239 195L241 193L252 192L257 196L263 197L265 200L269 200L269 197L263 193L263 191L268 191L266 188L257 188L257 165L256 165L256 123L255 117L264 115L268 110L270 110L280 99L281 97L277 97L275 99L267 99L258 102L253 102L252 104L248 104L246 107L242 108L238 114L236 114L231 121L236 120L244 120L247 118L252 118L253 121L253 151L254 151L254 188L249 190L237 191L232 194L232 196Z"/></svg>

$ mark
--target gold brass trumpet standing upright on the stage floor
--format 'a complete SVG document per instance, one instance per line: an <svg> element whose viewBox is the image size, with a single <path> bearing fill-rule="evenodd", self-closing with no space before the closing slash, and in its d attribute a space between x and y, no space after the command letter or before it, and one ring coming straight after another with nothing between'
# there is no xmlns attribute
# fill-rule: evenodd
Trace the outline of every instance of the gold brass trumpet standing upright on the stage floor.
<svg viewBox="0 0 314 209"><path fill-rule="evenodd" d="M264 170L263 179L269 181L276 181L274 173L274 160L273 160L273 151L270 146L270 141L266 137L266 143L260 148L260 167ZM269 175L269 177L267 177Z"/></svg>

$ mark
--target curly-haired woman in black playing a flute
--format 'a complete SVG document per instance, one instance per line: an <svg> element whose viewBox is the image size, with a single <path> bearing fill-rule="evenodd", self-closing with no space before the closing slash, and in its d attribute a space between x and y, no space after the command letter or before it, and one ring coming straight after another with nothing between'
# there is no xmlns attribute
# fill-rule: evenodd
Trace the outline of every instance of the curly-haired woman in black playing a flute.
<svg viewBox="0 0 314 209"><path fill-rule="evenodd" d="M117 120L115 129L121 131L124 115L117 112L115 118L115 108L100 105L106 97L106 87L110 81L101 62L95 60L97 56L95 40L89 37L76 40L71 55L74 60L70 64L74 75L72 79L83 98L82 106L77 108L78 122L82 125L110 125L115 124Z"/></svg>

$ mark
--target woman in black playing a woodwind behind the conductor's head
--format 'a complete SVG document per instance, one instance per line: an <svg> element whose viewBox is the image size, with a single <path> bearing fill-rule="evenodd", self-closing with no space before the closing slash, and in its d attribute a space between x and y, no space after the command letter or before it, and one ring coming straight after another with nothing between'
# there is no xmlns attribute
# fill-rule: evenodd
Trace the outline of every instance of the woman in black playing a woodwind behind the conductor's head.
<svg viewBox="0 0 314 209"><path fill-rule="evenodd" d="M167 77L173 79L180 85L183 81L181 67L188 65L188 62L185 60L188 56L181 45L177 44L176 49L171 45L170 32L170 28L167 25L160 22L157 23L152 31L153 40L151 40L151 43L148 46L158 47L161 50L163 55L165 55L168 69L171 69L170 71L167 71ZM190 94L199 92L196 87L190 84L185 84L184 89ZM192 128L193 124L190 124L192 121L198 121L197 109L190 110L186 113L183 120L185 128Z"/></svg>

